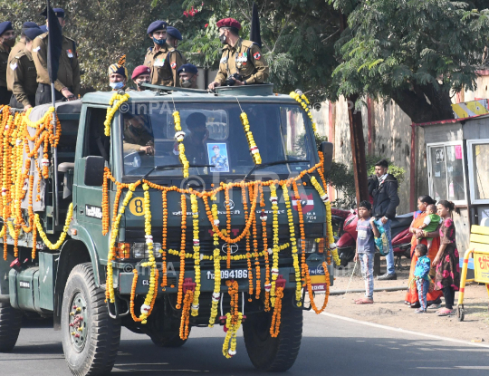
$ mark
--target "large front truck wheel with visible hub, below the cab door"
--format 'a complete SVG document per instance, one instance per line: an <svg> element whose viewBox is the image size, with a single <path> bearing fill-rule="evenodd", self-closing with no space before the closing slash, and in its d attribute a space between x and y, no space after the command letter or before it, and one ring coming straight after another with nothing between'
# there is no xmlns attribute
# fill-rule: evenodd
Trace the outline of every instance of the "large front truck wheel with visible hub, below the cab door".
<svg viewBox="0 0 489 376"><path fill-rule="evenodd" d="M62 350L75 376L112 370L120 343L120 319L110 318L105 292L95 286L91 263L76 265L62 297Z"/></svg>

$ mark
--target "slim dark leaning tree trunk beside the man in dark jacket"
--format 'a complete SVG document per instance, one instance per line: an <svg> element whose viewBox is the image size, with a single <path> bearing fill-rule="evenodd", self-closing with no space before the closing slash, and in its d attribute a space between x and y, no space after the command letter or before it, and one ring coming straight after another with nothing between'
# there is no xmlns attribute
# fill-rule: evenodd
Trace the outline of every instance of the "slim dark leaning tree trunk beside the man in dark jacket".
<svg viewBox="0 0 489 376"><path fill-rule="evenodd" d="M351 155L353 158L353 177L357 193L357 206L363 200L369 200L369 186L367 181L367 163L365 161L365 140L361 111L355 111L355 102L359 99L357 94L350 95L348 101L348 119L350 121Z"/></svg>

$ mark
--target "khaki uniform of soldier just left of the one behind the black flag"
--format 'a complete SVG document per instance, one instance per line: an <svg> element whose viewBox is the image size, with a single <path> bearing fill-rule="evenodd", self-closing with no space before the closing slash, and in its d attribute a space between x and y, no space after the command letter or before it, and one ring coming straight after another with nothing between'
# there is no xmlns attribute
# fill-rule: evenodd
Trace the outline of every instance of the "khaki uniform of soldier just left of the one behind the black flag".
<svg viewBox="0 0 489 376"><path fill-rule="evenodd" d="M24 50L14 56L9 64L8 70L14 77L13 92L15 99L24 104L34 107L35 91L37 90L37 72L30 51Z"/></svg>

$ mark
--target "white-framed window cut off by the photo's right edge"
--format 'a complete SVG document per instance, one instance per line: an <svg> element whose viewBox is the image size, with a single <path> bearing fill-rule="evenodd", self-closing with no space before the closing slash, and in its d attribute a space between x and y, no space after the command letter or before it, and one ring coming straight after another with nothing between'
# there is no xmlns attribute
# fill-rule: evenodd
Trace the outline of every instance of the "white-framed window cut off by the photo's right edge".
<svg viewBox="0 0 489 376"><path fill-rule="evenodd" d="M470 199L489 203L489 140L467 140Z"/></svg>

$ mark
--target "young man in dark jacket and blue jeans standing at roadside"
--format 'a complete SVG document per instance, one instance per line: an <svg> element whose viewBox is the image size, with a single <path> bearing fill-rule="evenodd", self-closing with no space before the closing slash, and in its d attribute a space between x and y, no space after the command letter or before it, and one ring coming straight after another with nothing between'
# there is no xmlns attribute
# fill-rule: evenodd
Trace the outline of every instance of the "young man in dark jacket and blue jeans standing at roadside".
<svg viewBox="0 0 489 376"><path fill-rule="evenodd" d="M378 279L380 281L398 279L390 233L390 223L396 217L396 208L399 205L398 179L388 174L386 159L380 159L375 164L375 176L369 178L369 194L373 197L372 217L376 218L377 226L384 227L388 238L387 273L380 275Z"/></svg>

